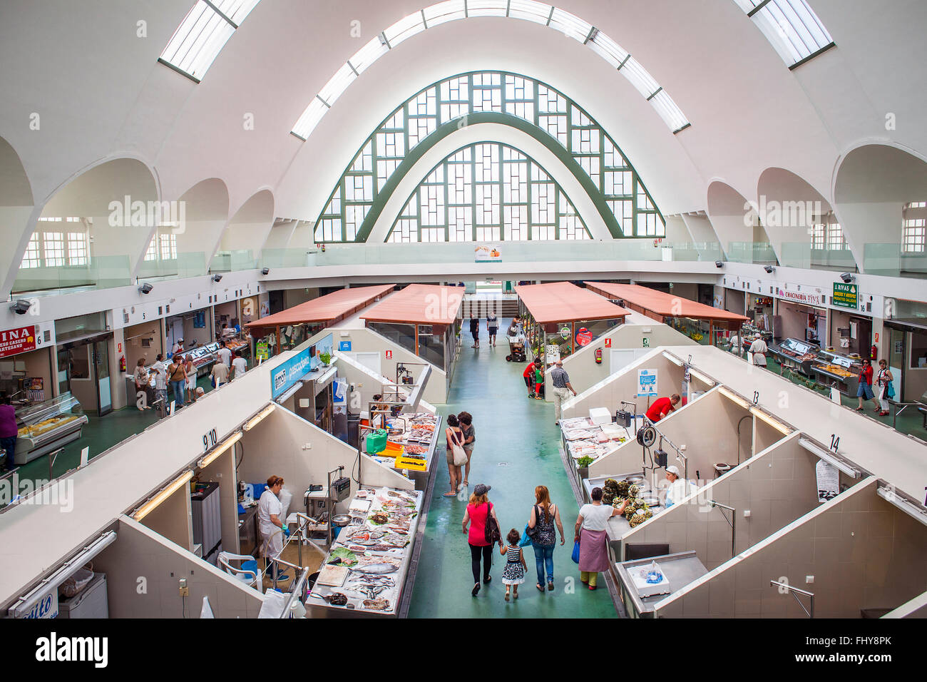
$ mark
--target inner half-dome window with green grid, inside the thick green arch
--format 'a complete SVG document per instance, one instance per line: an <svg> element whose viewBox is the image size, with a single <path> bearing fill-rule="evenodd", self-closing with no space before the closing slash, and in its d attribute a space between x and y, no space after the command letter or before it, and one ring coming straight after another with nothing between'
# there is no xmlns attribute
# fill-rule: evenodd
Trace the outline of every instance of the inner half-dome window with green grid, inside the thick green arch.
<svg viewBox="0 0 927 682"><path fill-rule="evenodd" d="M485 142L458 149L428 174L387 241L589 238L550 174L518 149Z"/></svg>

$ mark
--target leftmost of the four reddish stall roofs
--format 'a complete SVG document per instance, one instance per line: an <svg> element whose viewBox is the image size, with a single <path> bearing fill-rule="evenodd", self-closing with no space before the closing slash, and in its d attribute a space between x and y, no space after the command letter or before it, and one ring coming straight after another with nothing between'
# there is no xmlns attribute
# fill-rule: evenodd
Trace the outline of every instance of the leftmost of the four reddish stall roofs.
<svg viewBox="0 0 927 682"><path fill-rule="evenodd" d="M392 285L385 284L333 291L279 313L246 322L245 328L254 339L259 340L259 343L263 341L276 349L273 354L279 354L311 339L324 328L337 325L346 317L379 301L392 290Z"/></svg>

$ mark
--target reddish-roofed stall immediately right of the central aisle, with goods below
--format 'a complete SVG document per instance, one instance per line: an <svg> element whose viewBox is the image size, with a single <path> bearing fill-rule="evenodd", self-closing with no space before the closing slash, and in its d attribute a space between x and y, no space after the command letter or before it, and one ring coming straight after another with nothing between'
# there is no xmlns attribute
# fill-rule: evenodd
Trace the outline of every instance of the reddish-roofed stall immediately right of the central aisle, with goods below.
<svg viewBox="0 0 927 682"><path fill-rule="evenodd" d="M569 282L515 287L529 359L551 364L624 324L629 311Z"/></svg>

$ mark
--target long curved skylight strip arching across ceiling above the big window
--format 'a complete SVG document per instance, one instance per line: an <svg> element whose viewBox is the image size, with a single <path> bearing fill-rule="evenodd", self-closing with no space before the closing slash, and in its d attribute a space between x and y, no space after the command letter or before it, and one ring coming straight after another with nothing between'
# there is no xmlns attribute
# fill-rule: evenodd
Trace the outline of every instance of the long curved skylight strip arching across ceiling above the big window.
<svg viewBox="0 0 927 682"><path fill-rule="evenodd" d="M582 45L587 45L615 67L616 71L620 71L641 96L653 105L674 134L691 125L673 98L641 63L588 21L535 0L446 0L407 15L363 45L312 99L291 133L299 139L307 139L349 85L378 58L403 41L443 23L475 17L521 19L564 33Z"/></svg>

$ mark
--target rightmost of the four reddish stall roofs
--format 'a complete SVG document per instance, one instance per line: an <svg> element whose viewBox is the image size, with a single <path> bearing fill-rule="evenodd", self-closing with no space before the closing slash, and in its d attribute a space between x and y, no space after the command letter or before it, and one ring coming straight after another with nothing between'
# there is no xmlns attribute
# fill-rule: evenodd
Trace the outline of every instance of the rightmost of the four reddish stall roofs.
<svg viewBox="0 0 927 682"><path fill-rule="evenodd" d="M586 282L586 287L610 301L663 322L705 345L718 345L733 332L738 332L748 319L705 303L690 301L670 293L636 284Z"/></svg>

